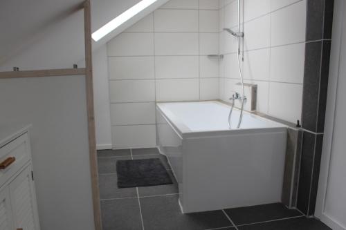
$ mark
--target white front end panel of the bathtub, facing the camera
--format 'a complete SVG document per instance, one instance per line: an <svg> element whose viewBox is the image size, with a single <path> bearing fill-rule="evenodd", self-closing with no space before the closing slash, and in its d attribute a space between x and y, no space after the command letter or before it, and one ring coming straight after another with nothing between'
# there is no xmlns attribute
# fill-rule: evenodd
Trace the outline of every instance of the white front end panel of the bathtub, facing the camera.
<svg viewBox="0 0 346 230"><path fill-rule="evenodd" d="M280 202L286 131L184 140L185 213Z"/></svg>

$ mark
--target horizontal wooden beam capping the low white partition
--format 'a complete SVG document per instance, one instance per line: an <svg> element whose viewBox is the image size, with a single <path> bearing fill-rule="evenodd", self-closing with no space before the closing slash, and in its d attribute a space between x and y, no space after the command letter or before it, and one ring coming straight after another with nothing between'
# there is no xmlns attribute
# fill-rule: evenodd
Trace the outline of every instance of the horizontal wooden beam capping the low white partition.
<svg viewBox="0 0 346 230"><path fill-rule="evenodd" d="M10 71L10 72L0 72L0 79L19 78L19 77L54 77L54 76L85 75L85 72L86 72L85 68Z"/></svg>

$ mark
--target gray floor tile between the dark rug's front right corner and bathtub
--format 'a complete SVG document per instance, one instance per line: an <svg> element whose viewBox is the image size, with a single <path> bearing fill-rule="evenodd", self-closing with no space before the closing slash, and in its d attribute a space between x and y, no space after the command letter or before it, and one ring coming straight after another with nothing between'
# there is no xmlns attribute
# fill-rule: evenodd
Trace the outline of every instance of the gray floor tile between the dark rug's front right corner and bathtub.
<svg viewBox="0 0 346 230"><path fill-rule="evenodd" d="M139 196L166 195L166 194L179 193L178 184L174 178L172 171L168 170L168 173L170 174L173 184L138 187Z"/></svg>

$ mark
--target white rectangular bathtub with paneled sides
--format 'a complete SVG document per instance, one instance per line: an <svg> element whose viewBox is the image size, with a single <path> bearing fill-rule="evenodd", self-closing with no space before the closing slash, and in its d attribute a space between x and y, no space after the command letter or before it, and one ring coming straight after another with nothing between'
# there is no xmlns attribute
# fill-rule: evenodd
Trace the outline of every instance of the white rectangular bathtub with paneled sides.
<svg viewBox="0 0 346 230"><path fill-rule="evenodd" d="M281 201L287 127L244 113L229 129L229 111L216 101L156 104L158 146L184 213ZM235 109L233 126L238 117Z"/></svg>

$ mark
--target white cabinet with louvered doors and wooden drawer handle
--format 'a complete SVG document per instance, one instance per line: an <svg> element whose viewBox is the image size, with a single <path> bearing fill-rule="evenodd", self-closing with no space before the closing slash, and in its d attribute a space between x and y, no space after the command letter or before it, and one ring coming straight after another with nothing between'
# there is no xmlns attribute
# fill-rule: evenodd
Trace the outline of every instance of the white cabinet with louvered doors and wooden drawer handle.
<svg viewBox="0 0 346 230"><path fill-rule="evenodd" d="M39 230L27 128L0 138L0 230L7 229Z"/></svg>

